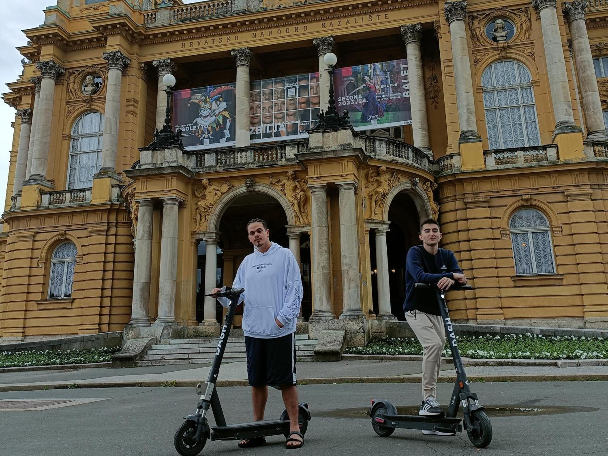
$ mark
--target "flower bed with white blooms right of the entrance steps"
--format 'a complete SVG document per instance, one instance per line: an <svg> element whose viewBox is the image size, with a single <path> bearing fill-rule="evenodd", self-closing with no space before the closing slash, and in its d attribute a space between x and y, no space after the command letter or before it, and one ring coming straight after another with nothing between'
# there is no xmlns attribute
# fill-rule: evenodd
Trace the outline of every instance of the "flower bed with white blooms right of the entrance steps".
<svg viewBox="0 0 608 456"><path fill-rule="evenodd" d="M458 350L465 358L489 359L608 359L608 339L602 337L537 336L461 336ZM367 347L347 348L347 354L422 354L417 339L374 340ZM443 356L451 356L448 345Z"/></svg>

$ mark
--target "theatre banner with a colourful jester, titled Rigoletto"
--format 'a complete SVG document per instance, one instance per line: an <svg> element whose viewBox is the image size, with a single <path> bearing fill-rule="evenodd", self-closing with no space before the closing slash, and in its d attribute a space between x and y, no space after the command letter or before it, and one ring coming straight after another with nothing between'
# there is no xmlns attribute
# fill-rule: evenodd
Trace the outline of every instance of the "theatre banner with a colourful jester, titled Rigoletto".
<svg viewBox="0 0 608 456"><path fill-rule="evenodd" d="M237 83L173 92L173 125L187 150L235 145L236 111Z"/></svg>

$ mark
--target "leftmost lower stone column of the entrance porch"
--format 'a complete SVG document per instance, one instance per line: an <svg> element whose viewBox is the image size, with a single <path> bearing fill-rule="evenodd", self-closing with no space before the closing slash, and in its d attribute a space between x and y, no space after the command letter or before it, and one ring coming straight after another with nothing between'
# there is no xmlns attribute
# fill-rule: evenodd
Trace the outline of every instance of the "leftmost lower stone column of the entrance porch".
<svg viewBox="0 0 608 456"><path fill-rule="evenodd" d="M154 204L151 199L137 201L135 268L133 271L133 305L130 325L150 326L150 277L152 271L152 228Z"/></svg>

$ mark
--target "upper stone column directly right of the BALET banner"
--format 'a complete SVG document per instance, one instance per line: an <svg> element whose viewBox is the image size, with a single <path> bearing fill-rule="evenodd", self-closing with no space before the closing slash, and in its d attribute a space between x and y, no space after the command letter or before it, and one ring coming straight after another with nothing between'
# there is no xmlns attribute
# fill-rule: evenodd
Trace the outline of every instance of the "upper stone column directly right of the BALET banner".
<svg viewBox="0 0 608 456"><path fill-rule="evenodd" d="M429 124L426 117L422 55L420 53L421 30L422 24L420 22L409 26L401 26L401 38L403 38L406 44L414 145L432 159L433 153L430 150L429 142Z"/></svg>

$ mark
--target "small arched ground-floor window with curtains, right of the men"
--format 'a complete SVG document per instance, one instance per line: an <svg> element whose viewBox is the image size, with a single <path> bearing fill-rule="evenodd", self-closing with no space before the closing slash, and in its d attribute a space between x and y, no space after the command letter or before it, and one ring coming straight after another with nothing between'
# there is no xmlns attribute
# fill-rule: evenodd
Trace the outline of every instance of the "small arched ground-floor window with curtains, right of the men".
<svg viewBox="0 0 608 456"><path fill-rule="evenodd" d="M547 218L536 209L520 209L509 222L515 274L555 274Z"/></svg>

